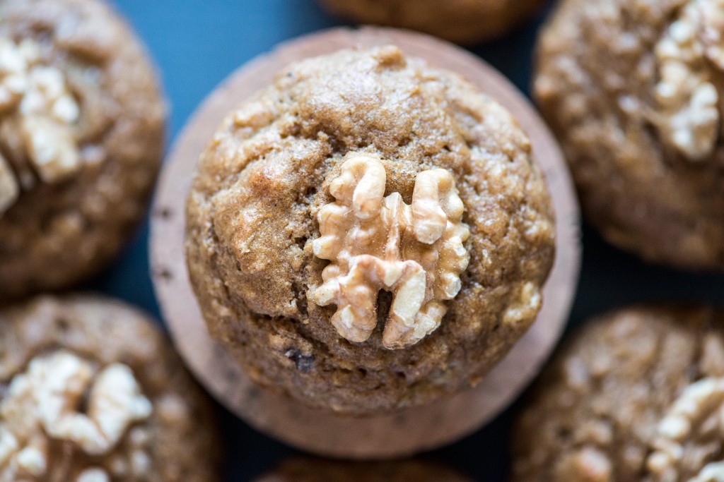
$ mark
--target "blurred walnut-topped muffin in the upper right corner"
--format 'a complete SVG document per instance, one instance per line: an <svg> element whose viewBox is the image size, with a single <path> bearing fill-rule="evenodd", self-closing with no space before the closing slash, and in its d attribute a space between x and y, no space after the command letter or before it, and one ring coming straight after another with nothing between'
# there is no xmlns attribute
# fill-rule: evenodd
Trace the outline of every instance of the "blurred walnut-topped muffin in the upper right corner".
<svg viewBox="0 0 724 482"><path fill-rule="evenodd" d="M564 0L534 95L584 214L652 262L724 269L724 4Z"/></svg>

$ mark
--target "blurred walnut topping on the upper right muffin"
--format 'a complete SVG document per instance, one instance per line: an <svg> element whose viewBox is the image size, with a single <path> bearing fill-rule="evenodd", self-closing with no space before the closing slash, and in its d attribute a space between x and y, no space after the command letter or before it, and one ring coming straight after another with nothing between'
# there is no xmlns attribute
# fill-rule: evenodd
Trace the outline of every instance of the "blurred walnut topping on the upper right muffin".
<svg viewBox="0 0 724 482"><path fill-rule="evenodd" d="M655 48L654 115L664 142L692 161L711 155L720 132L712 69L722 69L724 0L691 0Z"/></svg>

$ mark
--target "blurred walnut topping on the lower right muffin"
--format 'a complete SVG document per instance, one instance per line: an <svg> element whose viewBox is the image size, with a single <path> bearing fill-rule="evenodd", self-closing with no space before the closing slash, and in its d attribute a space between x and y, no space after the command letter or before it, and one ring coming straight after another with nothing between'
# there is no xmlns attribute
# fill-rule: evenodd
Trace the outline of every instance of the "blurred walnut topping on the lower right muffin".
<svg viewBox="0 0 724 482"><path fill-rule="evenodd" d="M724 480L724 462L709 462L720 455L723 437L724 378L689 385L657 426L647 459L652 480Z"/></svg>

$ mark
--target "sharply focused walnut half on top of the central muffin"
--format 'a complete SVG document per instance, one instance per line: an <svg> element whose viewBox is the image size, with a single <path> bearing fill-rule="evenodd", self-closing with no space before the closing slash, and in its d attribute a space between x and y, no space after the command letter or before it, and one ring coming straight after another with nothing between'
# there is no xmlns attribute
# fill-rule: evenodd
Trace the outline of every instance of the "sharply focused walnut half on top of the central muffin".
<svg viewBox="0 0 724 482"><path fill-rule="evenodd" d="M405 348L439 327L447 311L443 301L460 291L469 230L447 171L418 173L412 205L397 192L384 197L386 178L379 160L353 154L329 185L336 201L319 211L321 236L313 251L332 264L322 272L324 284L313 299L320 306L336 304L337 332L363 342L377 322L379 290L391 291L382 343Z"/></svg>

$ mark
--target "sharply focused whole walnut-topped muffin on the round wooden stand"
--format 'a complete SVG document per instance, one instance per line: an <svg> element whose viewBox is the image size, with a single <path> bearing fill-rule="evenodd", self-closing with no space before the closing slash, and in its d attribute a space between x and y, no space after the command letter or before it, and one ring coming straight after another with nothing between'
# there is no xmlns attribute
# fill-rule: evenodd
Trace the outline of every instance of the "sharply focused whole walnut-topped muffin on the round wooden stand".
<svg viewBox="0 0 724 482"><path fill-rule="evenodd" d="M479 382L541 306L552 205L501 106L395 46L300 61L201 155L185 250L211 335L311 407Z"/></svg>

